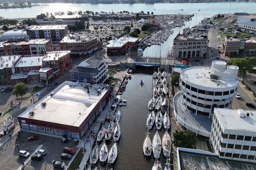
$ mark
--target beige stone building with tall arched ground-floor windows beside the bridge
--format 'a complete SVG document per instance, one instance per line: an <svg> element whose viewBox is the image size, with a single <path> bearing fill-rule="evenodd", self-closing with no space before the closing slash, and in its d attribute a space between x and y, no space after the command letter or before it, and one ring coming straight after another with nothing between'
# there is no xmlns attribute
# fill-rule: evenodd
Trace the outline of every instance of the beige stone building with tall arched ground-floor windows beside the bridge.
<svg viewBox="0 0 256 170"><path fill-rule="evenodd" d="M183 35L178 34L173 39L174 58L203 57L207 52L207 35Z"/></svg>

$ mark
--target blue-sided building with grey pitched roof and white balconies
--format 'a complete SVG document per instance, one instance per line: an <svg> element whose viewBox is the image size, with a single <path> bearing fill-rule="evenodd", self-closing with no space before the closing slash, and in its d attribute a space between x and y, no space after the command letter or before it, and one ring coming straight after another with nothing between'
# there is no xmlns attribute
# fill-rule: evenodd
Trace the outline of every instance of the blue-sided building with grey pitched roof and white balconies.
<svg viewBox="0 0 256 170"><path fill-rule="evenodd" d="M72 82L90 82L91 84L101 84L109 79L108 64L96 56L88 58L70 70Z"/></svg>

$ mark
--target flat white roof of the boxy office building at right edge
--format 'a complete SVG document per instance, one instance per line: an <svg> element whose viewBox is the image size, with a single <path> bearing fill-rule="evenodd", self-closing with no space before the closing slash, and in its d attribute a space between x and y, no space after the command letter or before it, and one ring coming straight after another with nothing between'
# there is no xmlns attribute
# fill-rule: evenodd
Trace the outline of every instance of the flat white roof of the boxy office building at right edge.
<svg viewBox="0 0 256 170"><path fill-rule="evenodd" d="M256 111L243 110L248 117L239 117L237 109L215 108L215 114L219 117L225 129L256 132Z"/></svg>

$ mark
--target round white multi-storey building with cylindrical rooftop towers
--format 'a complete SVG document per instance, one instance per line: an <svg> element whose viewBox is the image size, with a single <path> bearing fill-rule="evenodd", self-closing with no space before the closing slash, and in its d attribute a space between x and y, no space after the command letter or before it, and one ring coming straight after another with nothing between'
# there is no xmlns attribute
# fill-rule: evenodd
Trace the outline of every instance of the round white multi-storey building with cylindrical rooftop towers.
<svg viewBox="0 0 256 170"><path fill-rule="evenodd" d="M190 67L181 72L182 104L196 115L213 117L214 108L231 108L238 90L237 66L213 61L209 67Z"/></svg>

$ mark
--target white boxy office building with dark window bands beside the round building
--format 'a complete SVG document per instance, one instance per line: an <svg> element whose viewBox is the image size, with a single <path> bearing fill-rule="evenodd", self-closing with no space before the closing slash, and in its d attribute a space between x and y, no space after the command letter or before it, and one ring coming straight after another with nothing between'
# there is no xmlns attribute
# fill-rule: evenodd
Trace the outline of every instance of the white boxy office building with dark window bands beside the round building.
<svg viewBox="0 0 256 170"><path fill-rule="evenodd" d="M215 108L210 143L220 158L256 163L256 111Z"/></svg>

